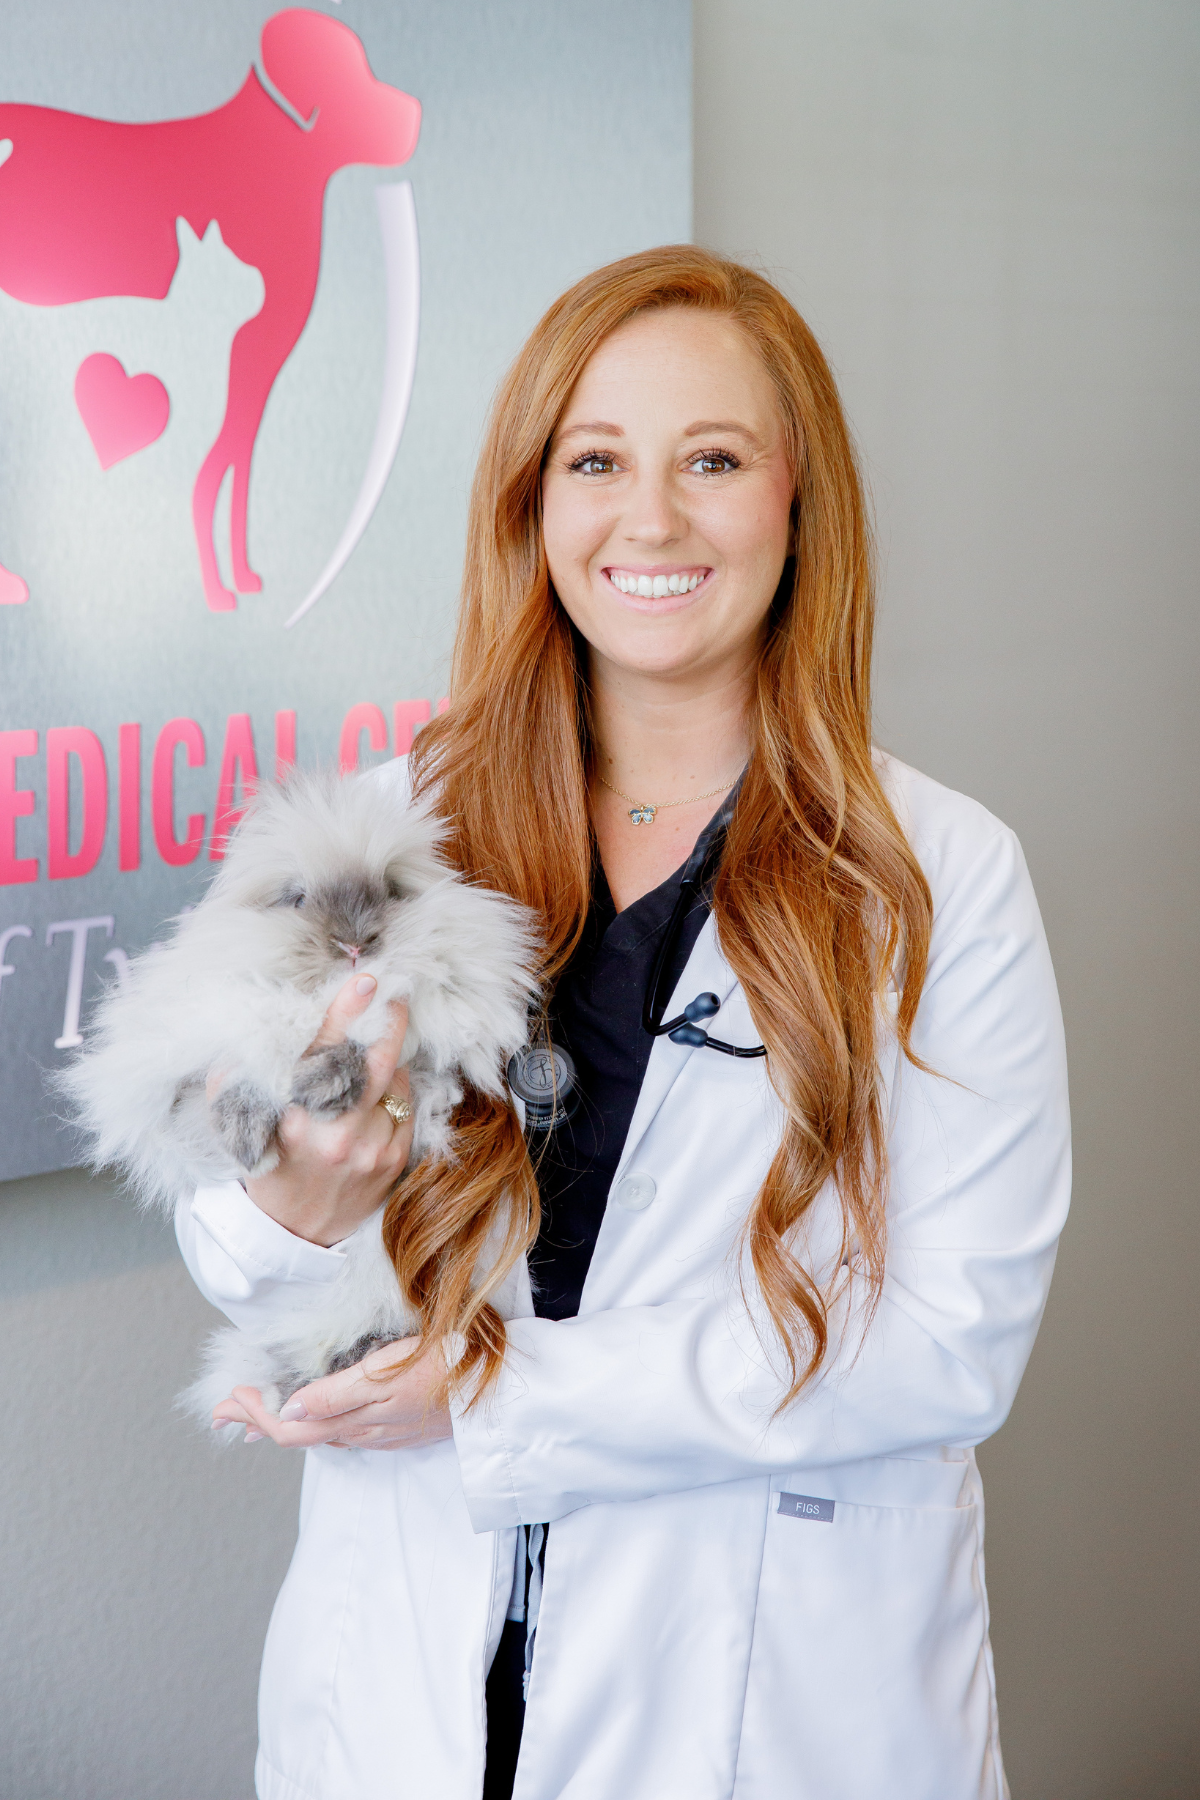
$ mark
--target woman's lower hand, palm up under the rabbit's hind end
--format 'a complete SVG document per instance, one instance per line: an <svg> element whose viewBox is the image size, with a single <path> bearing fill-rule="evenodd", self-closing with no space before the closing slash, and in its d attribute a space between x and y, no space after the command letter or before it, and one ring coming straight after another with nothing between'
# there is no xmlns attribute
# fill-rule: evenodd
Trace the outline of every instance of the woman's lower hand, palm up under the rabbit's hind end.
<svg viewBox="0 0 1200 1800"><path fill-rule="evenodd" d="M399 1364L399 1366L398 1366ZM396 1370L396 1373L383 1373ZM446 1364L437 1348L419 1337L383 1345L354 1368L326 1375L293 1393L275 1417L257 1388L234 1388L212 1408L212 1427L246 1426L246 1444L273 1438L284 1449L333 1444L338 1449L401 1451L450 1436L450 1411L432 1406Z"/></svg>

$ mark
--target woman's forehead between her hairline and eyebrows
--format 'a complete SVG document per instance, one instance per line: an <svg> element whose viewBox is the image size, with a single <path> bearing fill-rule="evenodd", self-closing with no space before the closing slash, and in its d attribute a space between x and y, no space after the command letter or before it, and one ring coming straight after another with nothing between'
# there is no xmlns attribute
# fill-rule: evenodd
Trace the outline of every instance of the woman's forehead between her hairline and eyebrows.
<svg viewBox="0 0 1200 1800"><path fill-rule="evenodd" d="M770 374L745 331L691 306L639 313L592 353L563 409L558 432L579 419L622 428L660 419L738 419L757 436L781 427Z"/></svg>

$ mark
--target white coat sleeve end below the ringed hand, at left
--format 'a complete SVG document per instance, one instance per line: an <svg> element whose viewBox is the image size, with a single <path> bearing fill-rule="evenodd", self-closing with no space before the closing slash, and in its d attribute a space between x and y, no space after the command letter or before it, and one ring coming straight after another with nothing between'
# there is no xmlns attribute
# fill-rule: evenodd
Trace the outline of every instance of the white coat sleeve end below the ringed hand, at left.
<svg viewBox="0 0 1200 1800"><path fill-rule="evenodd" d="M324 1249L270 1219L239 1181L184 1195L175 1235L205 1300L255 1330L273 1312L295 1312L297 1294L335 1282L345 1262L342 1246Z"/></svg>

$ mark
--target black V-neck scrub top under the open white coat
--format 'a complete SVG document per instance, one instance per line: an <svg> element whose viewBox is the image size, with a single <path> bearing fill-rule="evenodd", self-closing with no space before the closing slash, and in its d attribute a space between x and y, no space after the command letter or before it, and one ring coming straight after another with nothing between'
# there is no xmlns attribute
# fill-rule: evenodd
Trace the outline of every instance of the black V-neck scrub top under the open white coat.
<svg viewBox="0 0 1200 1800"><path fill-rule="evenodd" d="M581 1100L576 1112L547 1134L545 1145L540 1134L531 1134L542 1228L529 1251L529 1274L533 1307L542 1319L572 1319L579 1310L608 1190L653 1048L642 1030L642 1003L655 958L684 878L718 862L718 839L725 835L736 797L738 788L700 833L687 862L624 913L617 913L599 857L596 860L583 938L549 1008L551 1037L570 1053ZM709 914L709 898L703 889L684 914L662 972L664 1001L684 974ZM525 1717L524 1672L525 1627L509 1620L488 1676L484 1800L509 1800L513 1793Z"/></svg>

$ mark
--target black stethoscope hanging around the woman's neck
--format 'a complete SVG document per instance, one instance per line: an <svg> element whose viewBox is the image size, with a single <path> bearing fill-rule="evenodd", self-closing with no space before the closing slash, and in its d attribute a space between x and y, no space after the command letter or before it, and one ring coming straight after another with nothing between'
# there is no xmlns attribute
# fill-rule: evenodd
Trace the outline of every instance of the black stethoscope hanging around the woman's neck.
<svg viewBox="0 0 1200 1800"><path fill-rule="evenodd" d="M732 806L729 806L729 812L732 812ZM723 810L718 830L707 844L693 851L680 878L678 898L671 909L667 929L662 934L655 967L649 972L646 997L642 999L642 1031L648 1031L651 1037L669 1037L673 1044L684 1044L689 1049L720 1049L723 1057L765 1057L766 1044L727 1044L723 1039L711 1037L703 1030L700 1021L711 1019L721 1010L716 994L696 994L694 1001L689 1001L675 1019L662 1017L666 1012L662 981L675 958L684 920L696 904L705 882L716 873L725 839L721 826L725 823ZM576 1066L561 1044L543 1042L518 1051L509 1060L507 1078L513 1093L525 1103L527 1129L554 1130L579 1105L581 1094Z"/></svg>

